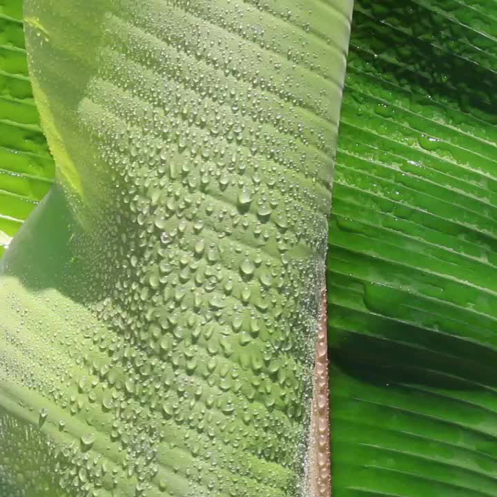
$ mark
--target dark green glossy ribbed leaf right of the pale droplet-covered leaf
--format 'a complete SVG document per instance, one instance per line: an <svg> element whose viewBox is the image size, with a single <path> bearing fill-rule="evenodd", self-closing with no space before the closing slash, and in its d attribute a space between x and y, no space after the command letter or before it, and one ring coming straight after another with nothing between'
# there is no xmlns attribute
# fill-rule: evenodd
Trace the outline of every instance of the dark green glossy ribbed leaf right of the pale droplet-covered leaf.
<svg viewBox="0 0 497 497"><path fill-rule="evenodd" d="M333 497L497 494L494 1L358 0L329 235Z"/></svg>

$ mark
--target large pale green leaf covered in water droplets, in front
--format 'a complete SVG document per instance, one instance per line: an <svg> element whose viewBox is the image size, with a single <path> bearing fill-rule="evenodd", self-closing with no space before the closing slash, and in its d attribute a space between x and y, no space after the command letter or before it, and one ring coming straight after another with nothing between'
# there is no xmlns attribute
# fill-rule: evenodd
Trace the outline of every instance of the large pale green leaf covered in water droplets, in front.
<svg viewBox="0 0 497 497"><path fill-rule="evenodd" d="M304 494L350 15L26 1L59 181L1 262L2 496Z"/></svg>

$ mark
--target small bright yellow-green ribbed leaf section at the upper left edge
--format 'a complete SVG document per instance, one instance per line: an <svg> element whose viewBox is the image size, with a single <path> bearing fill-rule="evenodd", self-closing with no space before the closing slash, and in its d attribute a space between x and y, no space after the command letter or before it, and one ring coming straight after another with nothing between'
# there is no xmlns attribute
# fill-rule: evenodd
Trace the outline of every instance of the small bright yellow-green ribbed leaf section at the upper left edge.
<svg viewBox="0 0 497 497"><path fill-rule="evenodd" d="M55 175L32 99L22 1L0 3L0 257Z"/></svg>

